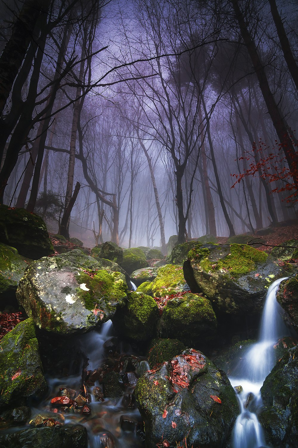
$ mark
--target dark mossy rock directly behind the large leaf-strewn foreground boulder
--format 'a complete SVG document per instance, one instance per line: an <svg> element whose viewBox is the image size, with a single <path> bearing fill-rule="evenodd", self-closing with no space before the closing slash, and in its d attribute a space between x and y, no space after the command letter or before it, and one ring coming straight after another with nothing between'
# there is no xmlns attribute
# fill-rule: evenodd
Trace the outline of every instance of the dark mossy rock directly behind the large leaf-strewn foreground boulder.
<svg viewBox="0 0 298 448"><path fill-rule="evenodd" d="M165 361L170 361L179 355L186 347L178 339L153 339L148 351L148 362L151 369L156 364L161 364Z"/></svg>

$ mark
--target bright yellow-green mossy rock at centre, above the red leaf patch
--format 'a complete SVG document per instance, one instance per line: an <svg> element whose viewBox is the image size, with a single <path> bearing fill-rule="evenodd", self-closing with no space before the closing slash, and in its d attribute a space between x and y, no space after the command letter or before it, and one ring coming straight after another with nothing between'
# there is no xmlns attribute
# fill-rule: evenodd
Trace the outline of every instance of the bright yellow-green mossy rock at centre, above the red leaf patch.
<svg viewBox="0 0 298 448"><path fill-rule="evenodd" d="M166 264L160 267L152 282L153 297L164 297L188 290L189 286L185 281L183 268L175 264Z"/></svg>

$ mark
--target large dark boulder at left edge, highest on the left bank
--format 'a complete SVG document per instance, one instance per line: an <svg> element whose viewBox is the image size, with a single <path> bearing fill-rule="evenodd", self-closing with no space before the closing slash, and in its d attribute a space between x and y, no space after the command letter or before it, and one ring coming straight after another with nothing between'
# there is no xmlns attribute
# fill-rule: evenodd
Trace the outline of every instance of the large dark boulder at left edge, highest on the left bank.
<svg viewBox="0 0 298 448"><path fill-rule="evenodd" d="M0 205L0 242L34 260L54 254L42 218L23 208Z"/></svg>

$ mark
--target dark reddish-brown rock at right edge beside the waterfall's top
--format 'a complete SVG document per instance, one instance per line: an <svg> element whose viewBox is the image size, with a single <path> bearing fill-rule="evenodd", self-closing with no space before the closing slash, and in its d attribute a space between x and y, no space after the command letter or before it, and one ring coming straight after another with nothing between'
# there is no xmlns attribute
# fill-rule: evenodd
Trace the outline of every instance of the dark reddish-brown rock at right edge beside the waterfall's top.
<svg viewBox="0 0 298 448"><path fill-rule="evenodd" d="M285 323L298 333L298 275L283 280L277 290L277 302L285 310Z"/></svg>

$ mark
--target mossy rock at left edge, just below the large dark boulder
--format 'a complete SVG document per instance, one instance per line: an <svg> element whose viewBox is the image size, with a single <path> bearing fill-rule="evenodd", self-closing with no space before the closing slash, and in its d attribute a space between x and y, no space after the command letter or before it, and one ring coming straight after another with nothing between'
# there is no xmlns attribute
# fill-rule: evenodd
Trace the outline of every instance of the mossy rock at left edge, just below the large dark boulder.
<svg viewBox="0 0 298 448"><path fill-rule="evenodd" d="M27 263L26 263L27 261ZM32 260L26 260L17 249L0 243L0 301L14 297L17 285Z"/></svg>

